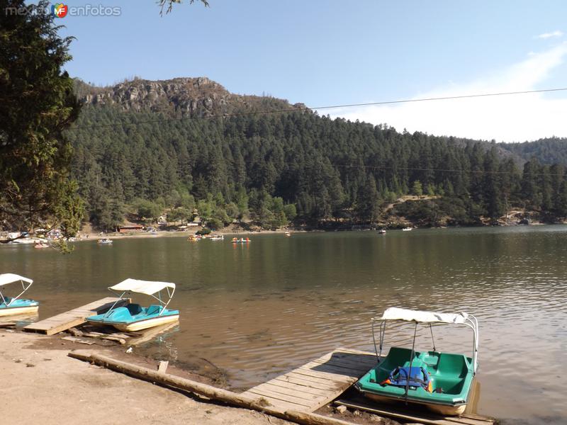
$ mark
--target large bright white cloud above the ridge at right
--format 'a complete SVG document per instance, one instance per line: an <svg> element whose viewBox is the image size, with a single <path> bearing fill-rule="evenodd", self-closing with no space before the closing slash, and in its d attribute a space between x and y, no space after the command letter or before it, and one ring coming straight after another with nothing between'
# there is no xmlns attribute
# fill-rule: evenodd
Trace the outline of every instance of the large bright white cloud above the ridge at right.
<svg viewBox="0 0 567 425"><path fill-rule="evenodd" d="M490 77L466 84L451 82L445 87L417 94L414 98L541 89L539 84L546 80L551 70L563 63L565 57L567 57L567 44L563 43L531 55L526 60ZM321 110L320 113L325 115L328 113L333 118L358 119L373 124L387 123L398 131L407 128L410 132L421 131L432 135L522 142L552 135L567 137L565 111L567 111L567 91L558 92L553 98L545 94L518 94L361 106Z"/></svg>

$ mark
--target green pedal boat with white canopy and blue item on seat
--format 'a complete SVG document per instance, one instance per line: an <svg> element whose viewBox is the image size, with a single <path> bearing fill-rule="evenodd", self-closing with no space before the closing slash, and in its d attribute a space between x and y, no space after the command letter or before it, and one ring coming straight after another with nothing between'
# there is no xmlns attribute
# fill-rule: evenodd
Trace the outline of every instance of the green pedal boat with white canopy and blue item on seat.
<svg viewBox="0 0 567 425"><path fill-rule="evenodd" d="M388 322L413 322L414 336L411 348L393 346L388 356L382 357ZM376 346L377 323L379 323L379 348ZM455 324L473 329L472 357L437 351L433 327L441 324ZM418 326L430 328L432 351L415 350ZM393 307L388 308L382 317L372 320L372 336L378 363L354 384L362 395L376 402L421 405L432 412L447 416L456 416L465 412L473 378L478 368L476 317L466 313L436 313Z"/></svg>

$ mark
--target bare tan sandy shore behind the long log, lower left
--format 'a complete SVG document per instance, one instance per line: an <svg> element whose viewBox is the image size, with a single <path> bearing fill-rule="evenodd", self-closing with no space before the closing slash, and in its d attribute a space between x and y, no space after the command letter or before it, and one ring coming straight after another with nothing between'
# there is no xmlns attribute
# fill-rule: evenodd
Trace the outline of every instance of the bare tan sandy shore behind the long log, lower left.
<svg viewBox="0 0 567 425"><path fill-rule="evenodd" d="M72 348L78 347L0 330L2 424L289 424L77 361L67 356Z"/></svg>

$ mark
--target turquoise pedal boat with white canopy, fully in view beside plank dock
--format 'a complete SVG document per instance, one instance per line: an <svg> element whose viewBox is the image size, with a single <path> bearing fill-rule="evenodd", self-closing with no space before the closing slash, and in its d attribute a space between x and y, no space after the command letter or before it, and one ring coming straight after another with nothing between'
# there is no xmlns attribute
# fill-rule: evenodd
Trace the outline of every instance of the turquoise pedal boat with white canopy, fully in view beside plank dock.
<svg viewBox="0 0 567 425"><path fill-rule="evenodd" d="M167 308L175 292L175 283L126 279L118 285L108 287L108 289L116 293L119 299L108 312L87 317L87 322L113 326L120 331L140 331L179 320L179 310ZM162 300L162 290L164 289L167 290L167 302ZM142 307L130 302L125 307L116 307L120 300L125 299L125 295L131 293L149 295L155 298L159 304Z"/></svg>

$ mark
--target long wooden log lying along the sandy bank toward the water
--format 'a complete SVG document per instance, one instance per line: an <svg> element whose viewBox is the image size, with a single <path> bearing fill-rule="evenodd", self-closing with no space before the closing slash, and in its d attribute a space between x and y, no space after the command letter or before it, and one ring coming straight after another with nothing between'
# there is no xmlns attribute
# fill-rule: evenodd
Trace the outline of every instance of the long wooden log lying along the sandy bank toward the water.
<svg viewBox="0 0 567 425"><path fill-rule="evenodd" d="M263 397L249 397L247 395L237 394L236 392L223 390L221 388L206 385L202 382L196 382L179 376L169 375L167 373L159 373L157 370L142 368L138 365L118 361L116 359L101 356L96 353L80 353L71 351L69 357L77 358L82 361L88 361L95 365L103 366L111 370L115 370L126 375L155 382L168 387L179 388L189 392L194 392L198 395L203 395L209 399L217 400L226 404L236 407L244 407L245 409L256 410L263 412L270 416L275 416L287 421L296 422L302 425L352 425L352 422L342 421L320 414L310 412L298 412L293 409L277 409L270 405L266 405L266 400Z"/></svg>

